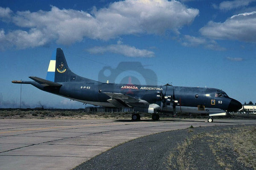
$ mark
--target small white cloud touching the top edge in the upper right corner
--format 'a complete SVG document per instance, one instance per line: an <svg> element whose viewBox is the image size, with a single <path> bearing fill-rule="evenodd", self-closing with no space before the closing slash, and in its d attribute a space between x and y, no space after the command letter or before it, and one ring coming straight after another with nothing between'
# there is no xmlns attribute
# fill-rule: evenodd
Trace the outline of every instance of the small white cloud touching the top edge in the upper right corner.
<svg viewBox="0 0 256 170"><path fill-rule="evenodd" d="M243 6L248 6L253 1L255 0L223 1L219 4L218 8L221 10L231 10L231 9L241 8Z"/></svg>

